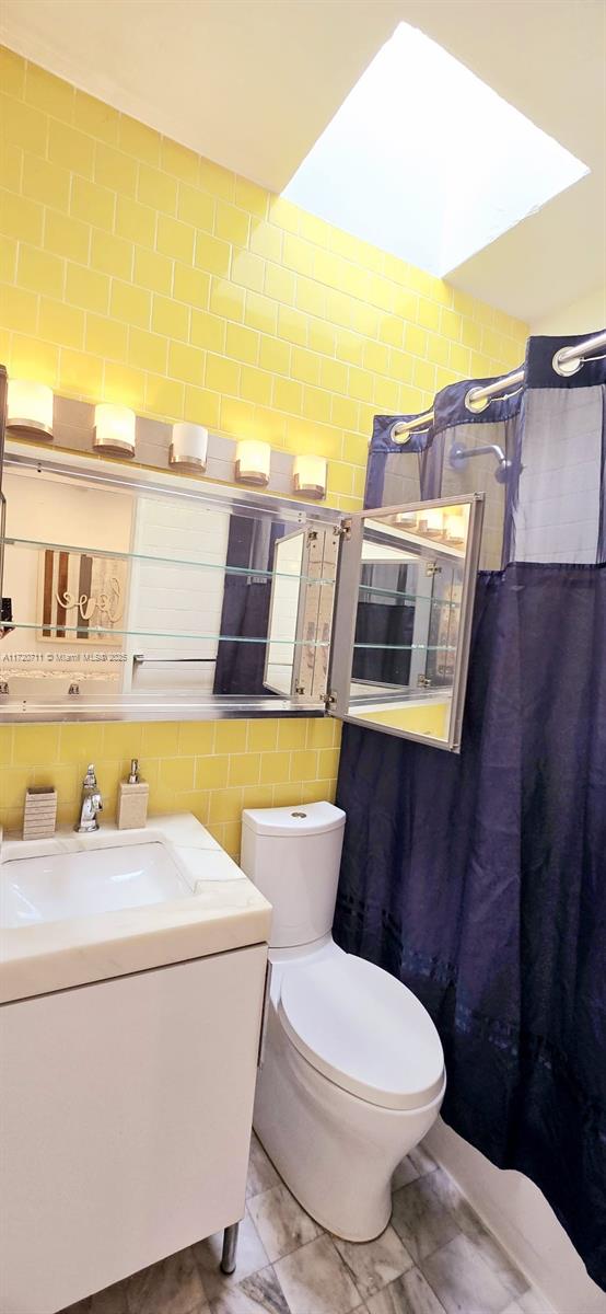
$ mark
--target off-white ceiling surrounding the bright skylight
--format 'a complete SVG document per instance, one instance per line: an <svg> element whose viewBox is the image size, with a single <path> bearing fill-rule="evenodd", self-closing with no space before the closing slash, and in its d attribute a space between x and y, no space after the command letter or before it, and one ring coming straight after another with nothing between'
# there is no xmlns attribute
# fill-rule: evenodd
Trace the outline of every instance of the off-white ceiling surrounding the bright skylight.
<svg viewBox="0 0 606 1314"><path fill-rule="evenodd" d="M400 20L592 170L449 281L530 322L606 281L603 0L3 0L0 33L29 59L281 192Z"/></svg>

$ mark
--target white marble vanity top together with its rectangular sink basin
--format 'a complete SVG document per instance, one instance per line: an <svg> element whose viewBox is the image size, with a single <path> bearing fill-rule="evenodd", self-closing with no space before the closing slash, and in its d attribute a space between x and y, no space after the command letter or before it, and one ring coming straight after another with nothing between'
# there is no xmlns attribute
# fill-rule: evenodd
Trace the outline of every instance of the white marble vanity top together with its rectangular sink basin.
<svg viewBox="0 0 606 1314"><path fill-rule="evenodd" d="M260 945L270 921L190 813L46 840L0 828L0 1004Z"/></svg>

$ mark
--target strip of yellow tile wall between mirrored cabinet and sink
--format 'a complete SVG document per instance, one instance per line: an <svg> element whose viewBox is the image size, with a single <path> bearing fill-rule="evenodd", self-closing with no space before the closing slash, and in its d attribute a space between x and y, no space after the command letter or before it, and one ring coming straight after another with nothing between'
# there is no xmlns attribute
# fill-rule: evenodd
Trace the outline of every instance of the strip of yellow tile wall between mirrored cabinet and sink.
<svg viewBox="0 0 606 1314"><path fill-rule="evenodd" d="M115 817L131 757L150 782L150 816L193 812L237 858L243 808L334 800L341 727L327 719L1 725L0 825L20 832L28 784L54 784L58 824L76 821L94 762L101 824Z"/></svg>

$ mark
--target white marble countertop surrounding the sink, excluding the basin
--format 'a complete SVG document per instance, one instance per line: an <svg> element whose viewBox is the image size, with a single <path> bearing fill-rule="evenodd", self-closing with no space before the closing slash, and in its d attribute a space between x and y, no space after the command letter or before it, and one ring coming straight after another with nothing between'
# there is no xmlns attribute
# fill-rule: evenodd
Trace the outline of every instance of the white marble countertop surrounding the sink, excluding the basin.
<svg viewBox="0 0 606 1314"><path fill-rule="evenodd" d="M219 954L269 940L272 907L252 880L189 813L152 817L136 830L104 824L93 834L67 828L51 840L0 842L3 866L14 858L163 844L192 895L160 904L0 930L0 1003L47 995L167 963Z"/></svg>

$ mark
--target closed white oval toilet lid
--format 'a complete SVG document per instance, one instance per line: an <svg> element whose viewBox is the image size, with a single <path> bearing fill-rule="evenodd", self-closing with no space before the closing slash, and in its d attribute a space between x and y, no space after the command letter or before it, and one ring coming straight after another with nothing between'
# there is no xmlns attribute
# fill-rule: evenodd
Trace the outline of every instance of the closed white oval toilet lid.
<svg viewBox="0 0 606 1314"><path fill-rule="evenodd" d="M429 1013L382 967L337 954L285 972L285 1031L317 1072L384 1109L439 1095L443 1053Z"/></svg>

